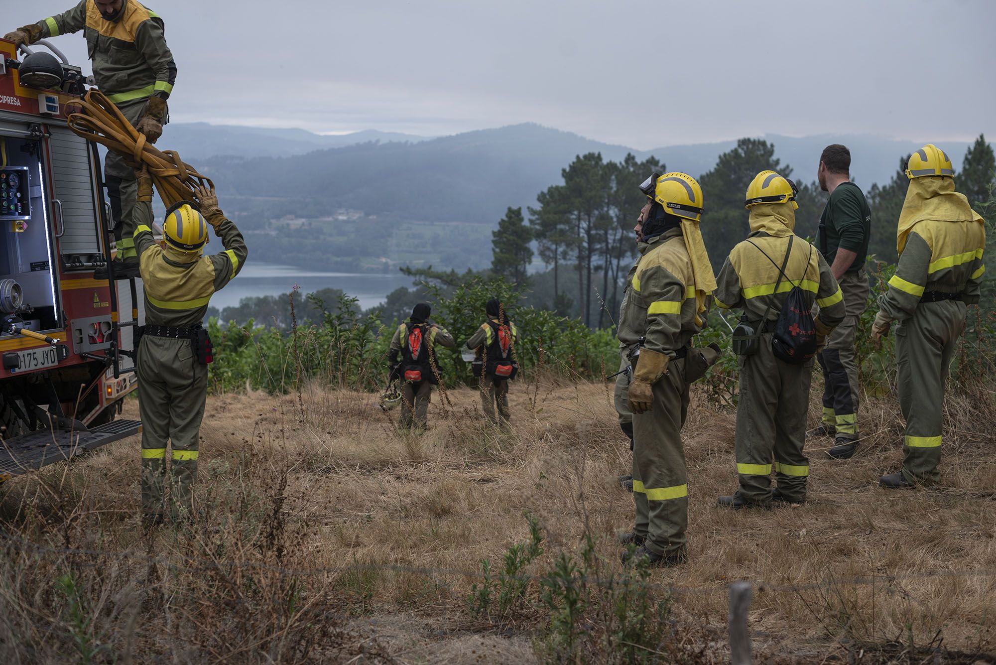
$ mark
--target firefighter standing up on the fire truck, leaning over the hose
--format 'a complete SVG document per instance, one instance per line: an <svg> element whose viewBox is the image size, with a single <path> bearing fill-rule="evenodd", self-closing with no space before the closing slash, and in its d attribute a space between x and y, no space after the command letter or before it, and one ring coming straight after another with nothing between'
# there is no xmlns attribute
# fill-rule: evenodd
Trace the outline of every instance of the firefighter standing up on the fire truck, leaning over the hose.
<svg viewBox="0 0 996 665"><path fill-rule="evenodd" d="M6 39L30 45L82 30L98 88L154 143L167 121L166 100L176 81L176 64L163 28L159 15L137 0L81 0L69 11L8 33ZM137 206L134 172L113 150L104 170L118 242L115 277L137 277L138 255L132 240ZM107 279L107 269L94 277Z"/></svg>

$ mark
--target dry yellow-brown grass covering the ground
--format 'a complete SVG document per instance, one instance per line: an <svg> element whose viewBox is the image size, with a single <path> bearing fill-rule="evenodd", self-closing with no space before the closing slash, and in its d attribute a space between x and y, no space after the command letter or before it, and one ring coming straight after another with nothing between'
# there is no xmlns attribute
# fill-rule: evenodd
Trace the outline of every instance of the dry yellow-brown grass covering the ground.
<svg viewBox="0 0 996 665"><path fill-rule="evenodd" d="M3 503L6 531L52 552L11 547L22 560L8 561L0 576L0 615L15 617L0 620L0 652L7 662L33 660L28 653L49 659L44 649L8 640L35 645L53 636L70 648L73 621L52 590L52 577L65 569L84 584L96 641L137 661L170 653L178 662L535 660L542 616L500 629L474 619L466 597L475 579L457 571L476 571L480 559L500 559L526 540L524 512L539 519L545 537L529 572L549 569L562 551L577 553L586 529L607 568L622 569L614 535L627 530L632 505L617 477L630 454L611 385L520 382L511 392L511 432L482 423L475 391L448 396L450 405L433 395L421 436L396 432L396 412L382 413L371 394L315 386L301 402L297 395L210 398L199 481L206 516L191 534L163 528L142 537L136 439L15 481ZM901 430L894 401L871 400L857 457L838 462L822 453L829 442L808 446L805 506L733 513L715 499L736 485L734 415L693 396L684 430L690 561L654 571L651 581L679 587L671 616L676 631L704 645L698 660L728 658L726 585L736 579L756 584L750 627L759 660L889 662L882 653L899 654L910 642L939 644L944 662L962 662L959 652L974 662L994 650L993 427L978 422L979 401L949 402L941 488L877 488L878 476L897 468ZM205 560L237 560L255 576L197 572ZM252 567L260 563L273 574ZM437 571L357 565L366 563ZM326 570L297 574L315 568ZM972 569L986 572L935 574ZM848 581L856 577L876 581ZM806 588L786 588L794 585ZM307 605L306 618L281 613L291 596ZM316 617L335 624L331 636L315 632Z"/></svg>

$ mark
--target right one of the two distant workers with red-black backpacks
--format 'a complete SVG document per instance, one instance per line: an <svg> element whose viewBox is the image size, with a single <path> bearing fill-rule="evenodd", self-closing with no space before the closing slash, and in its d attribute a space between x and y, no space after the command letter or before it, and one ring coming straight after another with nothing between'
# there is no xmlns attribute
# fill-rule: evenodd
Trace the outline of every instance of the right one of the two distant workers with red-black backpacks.
<svg viewBox="0 0 996 665"><path fill-rule="evenodd" d="M508 382L519 373L515 345L519 331L508 320L505 306L496 298L485 305L487 321L467 339L467 348L475 351L474 374L480 376L481 406L488 420L509 424L512 412L508 407ZM495 410L497 408L497 416Z"/></svg>

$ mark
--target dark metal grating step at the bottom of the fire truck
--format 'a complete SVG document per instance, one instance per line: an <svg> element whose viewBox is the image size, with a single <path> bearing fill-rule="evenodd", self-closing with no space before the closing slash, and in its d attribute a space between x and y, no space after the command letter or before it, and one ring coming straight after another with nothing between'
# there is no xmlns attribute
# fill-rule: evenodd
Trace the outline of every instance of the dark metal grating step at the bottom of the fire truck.
<svg viewBox="0 0 996 665"><path fill-rule="evenodd" d="M0 482L72 459L141 431L138 420L113 420L90 431L42 429L0 442Z"/></svg>

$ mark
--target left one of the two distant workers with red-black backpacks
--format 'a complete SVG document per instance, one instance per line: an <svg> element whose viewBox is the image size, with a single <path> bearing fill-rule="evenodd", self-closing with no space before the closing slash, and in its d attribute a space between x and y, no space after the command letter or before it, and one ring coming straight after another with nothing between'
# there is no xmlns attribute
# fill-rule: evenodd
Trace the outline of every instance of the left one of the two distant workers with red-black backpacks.
<svg viewBox="0 0 996 665"><path fill-rule="evenodd" d="M429 323L431 314L428 304L419 303L412 309L408 322L398 326L390 340L391 378L402 381L401 415L397 421L401 429L425 429L432 386L439 385L435 346L456 345L446 329Z"/></svg>

